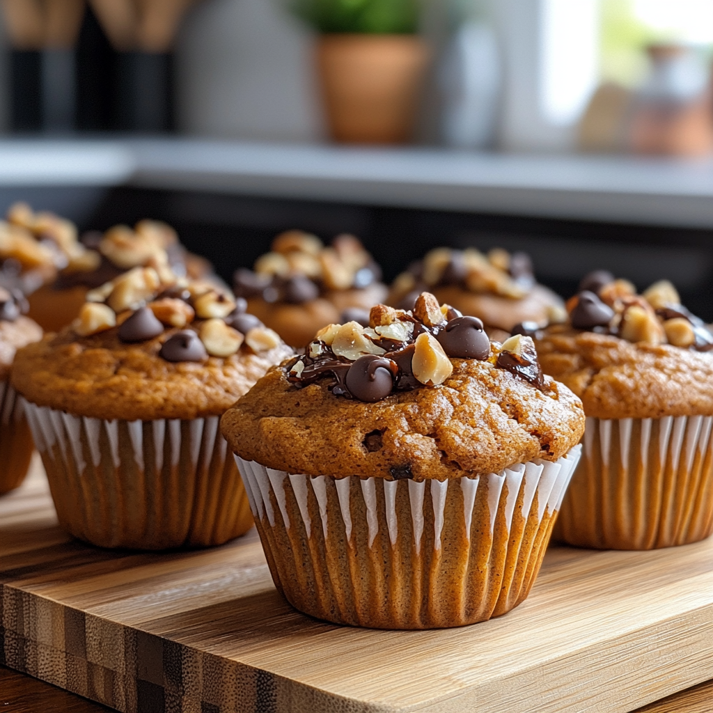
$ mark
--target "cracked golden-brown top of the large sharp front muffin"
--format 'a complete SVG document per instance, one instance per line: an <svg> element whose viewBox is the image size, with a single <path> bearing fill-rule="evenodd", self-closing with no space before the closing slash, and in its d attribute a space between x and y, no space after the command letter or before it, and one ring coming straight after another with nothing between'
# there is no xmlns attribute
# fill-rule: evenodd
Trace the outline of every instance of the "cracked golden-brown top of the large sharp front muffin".
<svg viewBox="0 0 713 713"><path fill-rule="evenodd" d="M237 401L222 418L233 451L290 473L442 481L578 443L582 405L543 376L529 337L491 342L429 293L370 317L320 330Z"/></svg>

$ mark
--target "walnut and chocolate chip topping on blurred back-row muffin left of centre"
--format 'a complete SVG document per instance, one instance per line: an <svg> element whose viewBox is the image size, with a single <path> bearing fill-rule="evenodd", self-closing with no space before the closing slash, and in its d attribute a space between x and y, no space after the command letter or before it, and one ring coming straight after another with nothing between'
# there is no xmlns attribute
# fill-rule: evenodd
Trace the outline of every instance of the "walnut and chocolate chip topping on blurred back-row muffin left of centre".
<svg viewBox="0 0 713 713"><path fill-rule="evenodd" d="M237 270L235 294L265 302L304 304L332 292L366 289L379 282L381 269L353 235L337 235L325 247L315 235L288 230L255 262Z"/></svg>

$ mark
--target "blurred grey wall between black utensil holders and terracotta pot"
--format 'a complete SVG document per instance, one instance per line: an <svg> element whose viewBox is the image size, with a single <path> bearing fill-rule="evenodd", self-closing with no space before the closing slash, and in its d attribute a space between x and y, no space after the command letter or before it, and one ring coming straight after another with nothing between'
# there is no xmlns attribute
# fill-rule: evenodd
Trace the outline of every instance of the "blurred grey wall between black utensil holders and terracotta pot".
<svg viewBox="0 0 713 713"><path fill-rule="evenodd" d="M312 36L281 0L205 0L176 46L178 126L217 137L322 137Z"/></svg>

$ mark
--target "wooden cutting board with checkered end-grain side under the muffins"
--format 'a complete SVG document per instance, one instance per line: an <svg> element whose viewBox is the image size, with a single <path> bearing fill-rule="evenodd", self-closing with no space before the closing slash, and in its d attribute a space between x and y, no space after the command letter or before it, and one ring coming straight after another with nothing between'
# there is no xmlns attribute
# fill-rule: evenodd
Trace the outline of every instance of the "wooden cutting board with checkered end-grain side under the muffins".
<svg viewBox="0 0 713 713"><path fill-rule="evenodd" d="M0 498L0 663L128 712L630 711L713 678L713 538L552 548L530 597L461 629L299 614L253 530L110 552L56 523L41 466Z"/></svg>

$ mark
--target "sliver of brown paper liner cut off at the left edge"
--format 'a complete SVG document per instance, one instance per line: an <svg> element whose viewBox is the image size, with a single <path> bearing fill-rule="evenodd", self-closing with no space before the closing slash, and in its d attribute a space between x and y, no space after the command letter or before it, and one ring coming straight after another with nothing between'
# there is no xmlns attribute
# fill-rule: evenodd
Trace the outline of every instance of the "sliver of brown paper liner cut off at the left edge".
<svg viewBox="0 0 713 713"><path fill-rule="evenodd" d="M9 381L0 381L0 495L24 481L33 450L23 400Z"/></svg>

